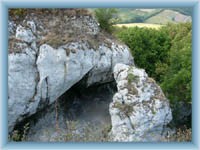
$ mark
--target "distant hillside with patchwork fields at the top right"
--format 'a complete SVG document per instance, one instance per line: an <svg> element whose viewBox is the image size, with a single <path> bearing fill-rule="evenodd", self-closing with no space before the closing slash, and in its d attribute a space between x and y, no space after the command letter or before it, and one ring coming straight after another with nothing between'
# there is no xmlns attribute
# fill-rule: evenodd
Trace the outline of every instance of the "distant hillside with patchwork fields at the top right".
<svg viewBox="0 0 200 150"><path fill-rule="evenodd" d="M118 8L119 23L155 23L191 22L191 8L169 9L133 9Z"/></svg>

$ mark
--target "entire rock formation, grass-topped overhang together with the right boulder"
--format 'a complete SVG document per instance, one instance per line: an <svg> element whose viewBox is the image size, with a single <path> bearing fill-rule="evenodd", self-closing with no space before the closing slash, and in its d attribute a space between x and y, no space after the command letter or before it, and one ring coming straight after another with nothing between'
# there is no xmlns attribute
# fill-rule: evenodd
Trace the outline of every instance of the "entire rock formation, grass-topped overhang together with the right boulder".
<svg viewBox="0 0 200 150"><path fill-rule="evenodd" d="M114 67L119 89L110 105L114 140L133 141L133 136L142 137L147 130L161 131L171 120L168 100L144 71L131 67L136 80L127 85L124 78L128 78L129 65L134 66L128 47L100 31L87 11L30 9L22 18L10 15L8 30L10 132L16 123L55 102L83 78L85 87L113 81ZM130 117L127 113L124 119L119 117L120 112L123 115L121 103L128 106L124 109L130 108L130 112L125 110Z"/></svg>

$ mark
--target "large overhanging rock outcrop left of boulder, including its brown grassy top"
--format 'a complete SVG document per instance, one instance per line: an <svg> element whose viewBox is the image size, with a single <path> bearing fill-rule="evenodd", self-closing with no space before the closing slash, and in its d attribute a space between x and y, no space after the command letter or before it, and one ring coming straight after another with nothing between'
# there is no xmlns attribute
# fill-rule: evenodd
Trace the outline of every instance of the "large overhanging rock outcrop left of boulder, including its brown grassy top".
<svg viewBox="0 0 200 150"><path fill-rule="evenodd" d="M128 47L101 33L91 15L45 12L19 22L9 18L10 132L83 77L86 86L113 81L116 63L133 64Z"/></svg>

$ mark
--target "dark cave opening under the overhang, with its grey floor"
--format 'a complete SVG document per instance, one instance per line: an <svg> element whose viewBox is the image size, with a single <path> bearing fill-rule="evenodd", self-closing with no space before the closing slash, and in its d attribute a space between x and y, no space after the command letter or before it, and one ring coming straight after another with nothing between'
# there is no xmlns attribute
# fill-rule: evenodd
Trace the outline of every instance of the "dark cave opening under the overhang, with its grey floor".
<svg viewBox="0 0 200 150"><path fill-rule="evenodd" d="M109 104L116 93L116 83L86 87L84 79L75 84L53 104L18 123L14 130L25 141L108 141L111 129ZM24 126L28 123L28 131Z"/></svg>

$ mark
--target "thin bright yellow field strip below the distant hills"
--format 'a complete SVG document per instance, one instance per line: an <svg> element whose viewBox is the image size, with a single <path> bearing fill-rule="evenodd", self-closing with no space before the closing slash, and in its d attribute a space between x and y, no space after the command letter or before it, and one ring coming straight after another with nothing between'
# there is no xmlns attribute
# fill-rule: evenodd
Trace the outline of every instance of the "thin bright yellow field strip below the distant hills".
<svg viewBox="0 0 200 150"><path fill-rule="evenodd" d="M160 29L162 25L159 24L150 24L150 23L125 23L125 24L116 24L117 27L139 27L139 28L153 28Z"/></svg>

